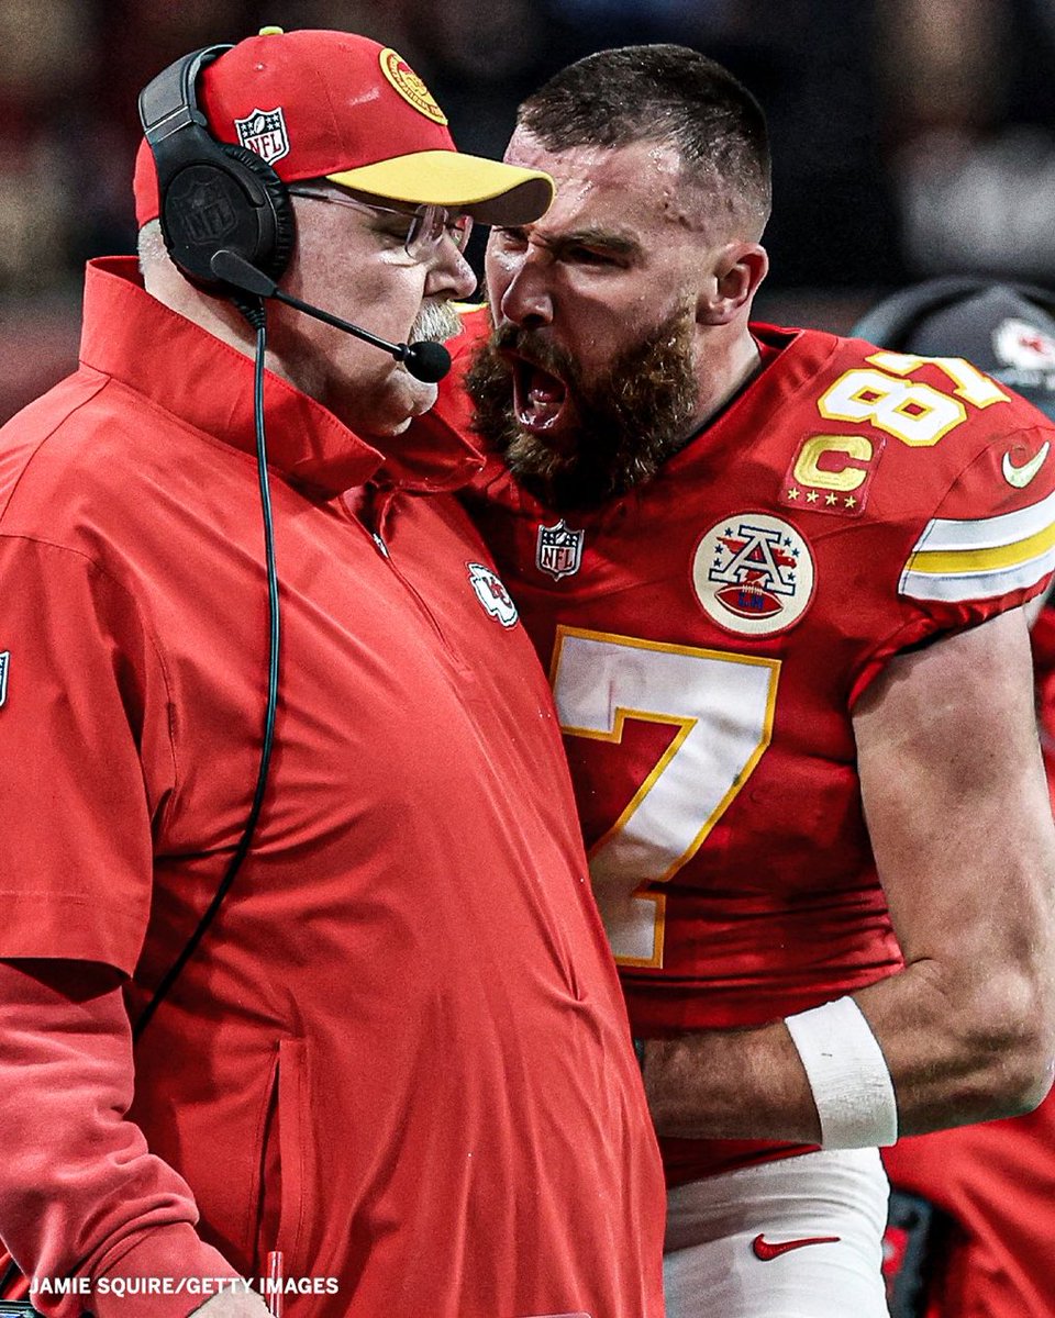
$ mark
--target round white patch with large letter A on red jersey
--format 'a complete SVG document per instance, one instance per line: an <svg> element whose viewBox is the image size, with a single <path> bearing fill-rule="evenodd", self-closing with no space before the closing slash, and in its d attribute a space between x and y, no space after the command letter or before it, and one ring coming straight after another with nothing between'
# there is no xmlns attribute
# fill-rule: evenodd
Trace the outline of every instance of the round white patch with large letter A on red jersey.
<svg viewBox="0 0 1055 1318"><path fill-rule="evenodd" d="M814 559L794 526L765 513L717 522L696 546L696 597L713 621L742 635L783 631L814 594Z"/></svg>

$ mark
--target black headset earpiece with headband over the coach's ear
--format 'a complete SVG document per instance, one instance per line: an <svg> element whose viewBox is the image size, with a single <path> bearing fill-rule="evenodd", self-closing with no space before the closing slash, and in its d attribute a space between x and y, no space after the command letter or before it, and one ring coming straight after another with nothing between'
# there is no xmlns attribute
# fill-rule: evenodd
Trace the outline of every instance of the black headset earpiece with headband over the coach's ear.
<svg viewBox="0 0 1055 1318"><path fill-rule="evenodd" d="M229 249L278 279L297 224L282 179L255 152L211 136L195 84L229 46L177 59L140 94L140 120L154 157L161 233L182 273L204 289L231 291L211 261Z"/></svg>

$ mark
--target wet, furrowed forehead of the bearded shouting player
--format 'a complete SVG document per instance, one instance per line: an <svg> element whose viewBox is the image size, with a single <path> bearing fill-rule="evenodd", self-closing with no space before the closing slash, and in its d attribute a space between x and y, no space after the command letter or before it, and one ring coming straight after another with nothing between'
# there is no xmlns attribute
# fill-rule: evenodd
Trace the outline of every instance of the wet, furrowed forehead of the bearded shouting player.
<svg viewBox="0 0 1055 1318"><path fill-rule="evenodd" d="M534 225L539 233L603 228L633 236L667 224L700 227L692 204L698 198L682 183L678 153L662 142L549 152L518 129L505 158L554 177L557 196Z"/></svg>

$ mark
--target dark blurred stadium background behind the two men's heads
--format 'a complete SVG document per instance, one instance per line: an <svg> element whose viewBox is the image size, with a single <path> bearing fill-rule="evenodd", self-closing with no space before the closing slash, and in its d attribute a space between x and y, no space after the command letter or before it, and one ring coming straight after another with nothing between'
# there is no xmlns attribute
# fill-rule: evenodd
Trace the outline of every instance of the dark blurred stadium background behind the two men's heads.
<svg viewBox="0 0 1055 1318"><path fill-rule="evenodd" d="M394 46L487 154L591 50L713 55L773 132L761 318L847 330L932 274L1055 283L1055 0L0 0L0 419L73 364L84 260L135 250L140 87L265 24Z"/></svg>

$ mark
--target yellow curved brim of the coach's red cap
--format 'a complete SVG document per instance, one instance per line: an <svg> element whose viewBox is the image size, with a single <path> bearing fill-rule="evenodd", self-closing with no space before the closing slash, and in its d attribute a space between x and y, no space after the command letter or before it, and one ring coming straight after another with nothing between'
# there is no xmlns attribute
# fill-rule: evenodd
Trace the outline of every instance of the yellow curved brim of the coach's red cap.
<svg viewBox="0 0 1055 1318"><path fill-rule="evenodd" d="M542 170L462 152L415 152L326 177L390 202L446 206L480 224L530 224L554 196L554 182Z"/></svg>

